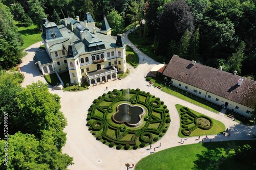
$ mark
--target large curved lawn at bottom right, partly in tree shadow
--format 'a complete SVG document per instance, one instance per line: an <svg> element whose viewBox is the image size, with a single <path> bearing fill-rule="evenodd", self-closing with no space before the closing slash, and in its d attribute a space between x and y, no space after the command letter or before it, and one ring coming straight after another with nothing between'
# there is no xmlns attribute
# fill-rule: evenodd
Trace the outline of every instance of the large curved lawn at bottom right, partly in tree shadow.
<svg viewBox="0 0 256 170"><path fill-rule="evenodd" d="M151 154L141 159L135 170L176 169L255 169L255 150L236 155L238 147L247 144L255 148L251 140L205 142L181 145ZM253 164L254 163L254 167Z"/></svg>

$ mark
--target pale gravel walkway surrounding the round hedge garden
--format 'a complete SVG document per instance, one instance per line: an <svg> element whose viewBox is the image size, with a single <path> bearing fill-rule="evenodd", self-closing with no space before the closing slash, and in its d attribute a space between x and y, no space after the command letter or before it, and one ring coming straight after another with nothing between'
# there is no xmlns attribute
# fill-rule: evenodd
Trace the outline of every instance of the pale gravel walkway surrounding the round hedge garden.
<svg viewBox="0 0 256 170"><path fill-rule="evenodd" d="M127 39L127 32L122 35L125 43L133 45ZM37 46L35 46L37 47ZM33 49L33 46L30 47ZM176 147L180 145L181 138L178 137L178 130L180 127L180 120L178 112L175 108L176 104L181 104L190 109L193 109L197 112L203 113L207 116L215 118L221 121L226 128L232 129L230 137L223 135L208 135L208 138L212 138L214 141L222 140L239 140L239 139L252 139L252 135L255 135L256 127L247 127L240 125L236 122L233 122L231 119L224 117L223 115L216 114L205 110L199 106L193 105L186 101L183 101L175 96L169 95L163 91L154 88L153 86L148 86L148 83L144 79L144 73L146 70L151 67L159 64L153 59L147 57L137 48L135 49L139 56L139 66L137 68L129 67L130 75L122 80L109 81L107 84L97 85L95 87L90 87L90 90L77 91L77 92L68 92L62 90L54 90L52 93L56 93L61 97L61 111L65 114L68 120L68 126L65 128L67 132L67 143L63 147L63 153L67 153L74 158L74 165L69 166L71 170L77 169L123 169L126 170L125 163L129 162L130 164L136 164L140 159L150 155L151 151L147 148L137 149L137 150L115 150L109 148L107 145L102 144L100 141L97 141L96 138L90 133L88 127L86 127L87 121L87 110L92 104L92 101L102 93L106 93L106 85L108 85L108 91L113 89L126 89L126 88L140 88L141 90L148 91L151 94L159 97L164 101L167 108L170 110L170 118L172 122L170 123L169 130L157 143L152 144L152 147L158 147L159 143L162 143L161 148L157 148L157 152ZM29 58L29 59L28 59ZM27 62L33 62L31 56L26 58ZM143 61L145 58L145 61ZM32 65L31 65L32 66ZM24 68L23 68L24 67ZM38 69L25 69L26 64L21 69L25 73L24 84L31 83L37 79L40 80L40 75L36 73ZM32 66L33 67L33 66ZM33 72L35 71L35 72ZM34 75L35 77L31 77ZM39 77L39 78L38 78ZM198 137L188 137L188 140L185 140L184 144L192 144L200 142L197 140ZM202 138L202 137L201 137ZM184 139L183 139L184 140ZM206 140L205 142L209 141ZM133 168L132 168L133 169Z"/></svg>

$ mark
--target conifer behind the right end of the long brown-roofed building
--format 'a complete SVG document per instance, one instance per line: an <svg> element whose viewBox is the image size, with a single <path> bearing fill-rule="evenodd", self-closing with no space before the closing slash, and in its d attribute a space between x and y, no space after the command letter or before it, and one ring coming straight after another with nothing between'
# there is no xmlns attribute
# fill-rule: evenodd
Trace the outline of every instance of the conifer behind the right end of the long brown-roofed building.
<svg viewBox="0 0 256 170"><path fill-rule="evenodd" d="M242 41L237 47L237 52L233 53L228 60L227 64L229 65L229 72L234 72L234 70L237 70L237 73L241 74L242 62L244 60L244 49L245 43Z"/></svg>

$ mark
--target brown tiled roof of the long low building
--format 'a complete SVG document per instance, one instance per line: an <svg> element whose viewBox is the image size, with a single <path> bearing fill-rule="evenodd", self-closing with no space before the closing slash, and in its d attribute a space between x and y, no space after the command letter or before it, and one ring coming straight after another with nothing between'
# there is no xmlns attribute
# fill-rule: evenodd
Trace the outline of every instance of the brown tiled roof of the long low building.
<svg viewBox="0 0 256 170"><path fill-rule="evenodd" d="M256 81L200 63L193 65L177 55L170 60L163 75L250 108L256 103ZM243 79L240 86L239 79Z"/></svg>

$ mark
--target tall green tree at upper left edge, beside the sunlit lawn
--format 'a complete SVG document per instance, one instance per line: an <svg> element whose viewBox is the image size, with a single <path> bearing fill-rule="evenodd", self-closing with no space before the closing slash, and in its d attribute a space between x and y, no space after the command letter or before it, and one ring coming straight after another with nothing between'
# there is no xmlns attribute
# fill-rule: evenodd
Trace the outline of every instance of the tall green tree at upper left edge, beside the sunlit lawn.
<svg viewBox="0 0 256 170"><path fill-rule="evenodd" d="M17 32L13 23L10 9L0 3L0 66L4 69L11 68L22 61L22 37Z"/></svg>

